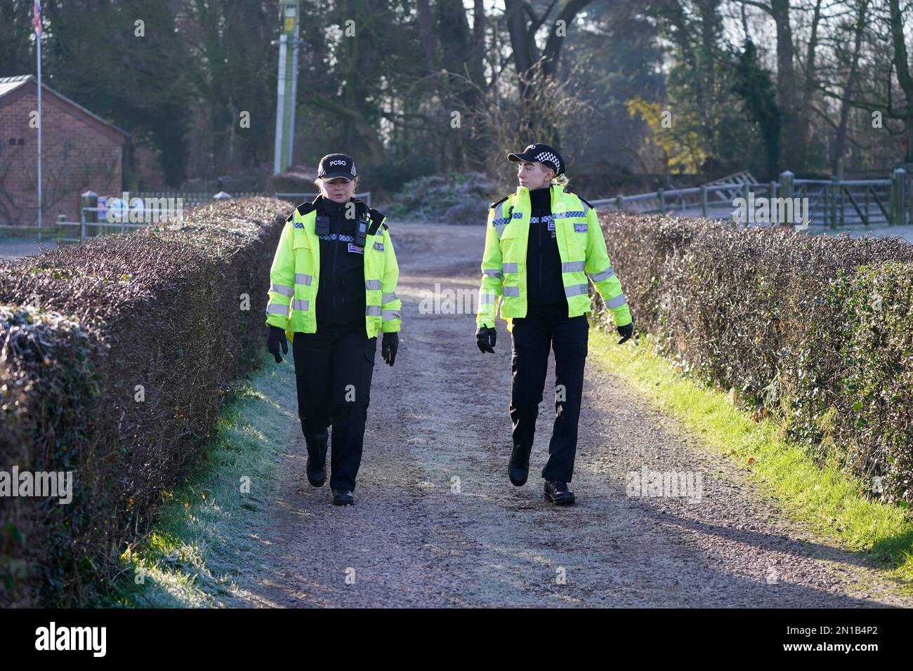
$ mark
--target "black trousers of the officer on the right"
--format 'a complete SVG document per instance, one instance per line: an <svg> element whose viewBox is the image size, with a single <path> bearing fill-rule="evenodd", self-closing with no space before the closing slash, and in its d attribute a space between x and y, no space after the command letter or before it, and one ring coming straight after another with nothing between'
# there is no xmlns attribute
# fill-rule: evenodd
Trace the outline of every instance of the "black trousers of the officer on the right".
<svg viewBox="0 0 913 671"><path fill-rule="evenodd" d="M555 352L555 422L542 477L571 482L590 324L585 314L515 318L511 334L510 421L514 445L528 453L532 449L551 348Z"/></svg>

